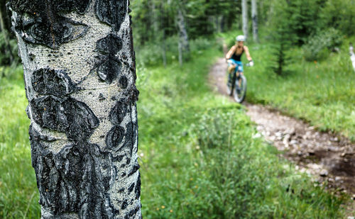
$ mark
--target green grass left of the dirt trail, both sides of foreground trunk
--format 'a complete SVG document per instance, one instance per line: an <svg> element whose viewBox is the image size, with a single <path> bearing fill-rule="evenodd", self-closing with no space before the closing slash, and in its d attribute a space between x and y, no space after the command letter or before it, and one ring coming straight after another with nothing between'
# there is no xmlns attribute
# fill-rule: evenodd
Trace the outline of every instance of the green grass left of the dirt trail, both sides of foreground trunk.
<svg viewBox="0 0 355 219"><path fill-rule="evenodd" d="M295 172L242 106L210 91L215 51L138 68L144 218L342 218L346 198ZM21 71L0 89L0 218L39 218Z"/></svg>

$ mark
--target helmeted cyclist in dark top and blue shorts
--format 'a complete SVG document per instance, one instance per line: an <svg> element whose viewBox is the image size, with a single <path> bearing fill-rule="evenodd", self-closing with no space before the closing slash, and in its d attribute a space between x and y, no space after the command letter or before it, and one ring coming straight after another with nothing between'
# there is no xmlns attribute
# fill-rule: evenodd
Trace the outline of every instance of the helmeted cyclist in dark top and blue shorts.
<svg viewBox="0 0 355 219"><path fill-rule="evenodd" d="M236 72L239 74L243 74L243 63L241 63L241 55L243 55L244 52L246 53L246 59L249 60L249 66L254 65L249 53L249 49L246 45L244 45L245 40L246 38L244 35L237 36L236 45L232 46L229 52L226 54L226 60L228 62L229 82L231 80L231 73L234 72L235 69L237 69Z"/></svg>

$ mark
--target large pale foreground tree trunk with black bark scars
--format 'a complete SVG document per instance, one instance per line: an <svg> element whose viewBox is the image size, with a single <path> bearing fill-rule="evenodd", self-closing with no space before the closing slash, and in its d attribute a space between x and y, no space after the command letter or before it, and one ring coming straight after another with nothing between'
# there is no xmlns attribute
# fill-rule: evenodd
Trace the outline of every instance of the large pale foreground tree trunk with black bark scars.
<svg viewBox="0 0 355 219"><path fill-rule="evenodd" d="M129 1L9 6L42 218L141 218Z"/></svg>

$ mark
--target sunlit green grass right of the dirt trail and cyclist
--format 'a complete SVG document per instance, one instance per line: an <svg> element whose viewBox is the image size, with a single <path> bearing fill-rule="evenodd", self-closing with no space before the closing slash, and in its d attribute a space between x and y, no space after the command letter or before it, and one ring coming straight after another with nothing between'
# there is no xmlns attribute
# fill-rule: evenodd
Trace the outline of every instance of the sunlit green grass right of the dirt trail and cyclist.
<svg viewBox="0 0 355 219"><path fill-rule="evenodd" d="M283 77L276 77L269 67L271 45L251 45L256 65L246 69L247 100L355 140L355 72L349 58L349 42L354 40L345 39L339 53L328 52L322 61L307 62L300 48L290 50L290 73Z"/></svg>

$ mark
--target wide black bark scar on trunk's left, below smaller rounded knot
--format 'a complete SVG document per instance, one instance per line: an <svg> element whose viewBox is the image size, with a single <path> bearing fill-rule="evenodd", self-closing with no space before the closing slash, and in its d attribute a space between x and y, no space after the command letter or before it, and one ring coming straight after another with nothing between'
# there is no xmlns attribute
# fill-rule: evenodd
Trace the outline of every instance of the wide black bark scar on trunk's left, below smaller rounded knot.
<svg viewBox="0 0 355 219"><path fill-rule="evenodd" d="M43 128L65 132L69 140L84 142L99 126L92 110L72 98L43 96L31 101L33 120Z"/></svg>

